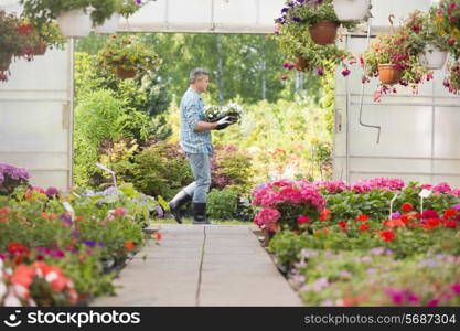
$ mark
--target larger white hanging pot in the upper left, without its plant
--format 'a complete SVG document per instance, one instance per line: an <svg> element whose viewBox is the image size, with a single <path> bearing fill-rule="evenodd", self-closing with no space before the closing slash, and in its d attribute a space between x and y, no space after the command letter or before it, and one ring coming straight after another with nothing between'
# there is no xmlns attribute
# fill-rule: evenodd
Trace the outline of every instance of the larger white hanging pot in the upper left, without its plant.
<svg viewBox="0 0 460 331"><path fill-rule="evenodd" d="M89 13L85 13L83 9L74 9L62 13L57 18L57 24L63 35L83 38L89 34L93 23Z"/></svg>

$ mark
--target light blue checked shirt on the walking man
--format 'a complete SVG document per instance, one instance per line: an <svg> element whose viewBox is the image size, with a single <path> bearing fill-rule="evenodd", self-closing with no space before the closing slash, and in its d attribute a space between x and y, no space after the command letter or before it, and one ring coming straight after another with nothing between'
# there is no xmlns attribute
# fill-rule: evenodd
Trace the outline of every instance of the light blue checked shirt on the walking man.
<svg viewBox="0 0 460 331"><path fill-rule="evenodd" d="M204 104L200 95L191 87L181 100L181 140L180 146L186 153L213 154L211 131L194 131L199 121L207 121Z"/></svg>

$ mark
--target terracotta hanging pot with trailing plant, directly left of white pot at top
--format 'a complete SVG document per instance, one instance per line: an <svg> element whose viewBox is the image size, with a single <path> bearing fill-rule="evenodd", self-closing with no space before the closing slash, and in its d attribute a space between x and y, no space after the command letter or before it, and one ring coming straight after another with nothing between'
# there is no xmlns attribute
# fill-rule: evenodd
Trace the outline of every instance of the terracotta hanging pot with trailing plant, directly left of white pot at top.
<svg viewBox="0 0 460 331"><path fill-rule="evenodd" d="M334 43L340 25L351 29L357 24L355 21L341 22L335 15L332 0L287 1L277 22L308 29L311 40L320 45Z"/></svg>

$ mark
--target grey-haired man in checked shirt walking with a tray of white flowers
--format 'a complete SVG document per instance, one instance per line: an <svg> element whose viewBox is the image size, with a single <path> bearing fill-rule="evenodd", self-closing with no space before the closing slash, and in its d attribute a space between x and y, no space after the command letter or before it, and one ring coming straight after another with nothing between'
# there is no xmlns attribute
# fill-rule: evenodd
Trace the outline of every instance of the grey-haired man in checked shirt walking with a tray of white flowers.
<svg viewBox="0 0 460 331"><path fill-rule="evenodd" d="M182 189L168 204L178 223L182 223L180 207L193 199L193 224L211 224L206 220L206 195L211 185L211 160L213 146L211 130L222 130L234 124L226 116L217 122L208 122L200 94L210 85L210 74L204 68L194 68L189 76L190 87L181 100L180 146L192 167L195 181Z"/></svg>

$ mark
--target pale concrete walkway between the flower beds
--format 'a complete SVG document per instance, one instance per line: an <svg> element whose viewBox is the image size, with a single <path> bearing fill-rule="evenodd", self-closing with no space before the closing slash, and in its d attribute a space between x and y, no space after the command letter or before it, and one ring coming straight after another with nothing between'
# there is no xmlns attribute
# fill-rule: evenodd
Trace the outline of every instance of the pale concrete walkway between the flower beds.
<svg viewBox="0 0 460 331"><path fill-rule="evenodd" d="M161 225L96 306L302 306L249 226Z"/></svg>

